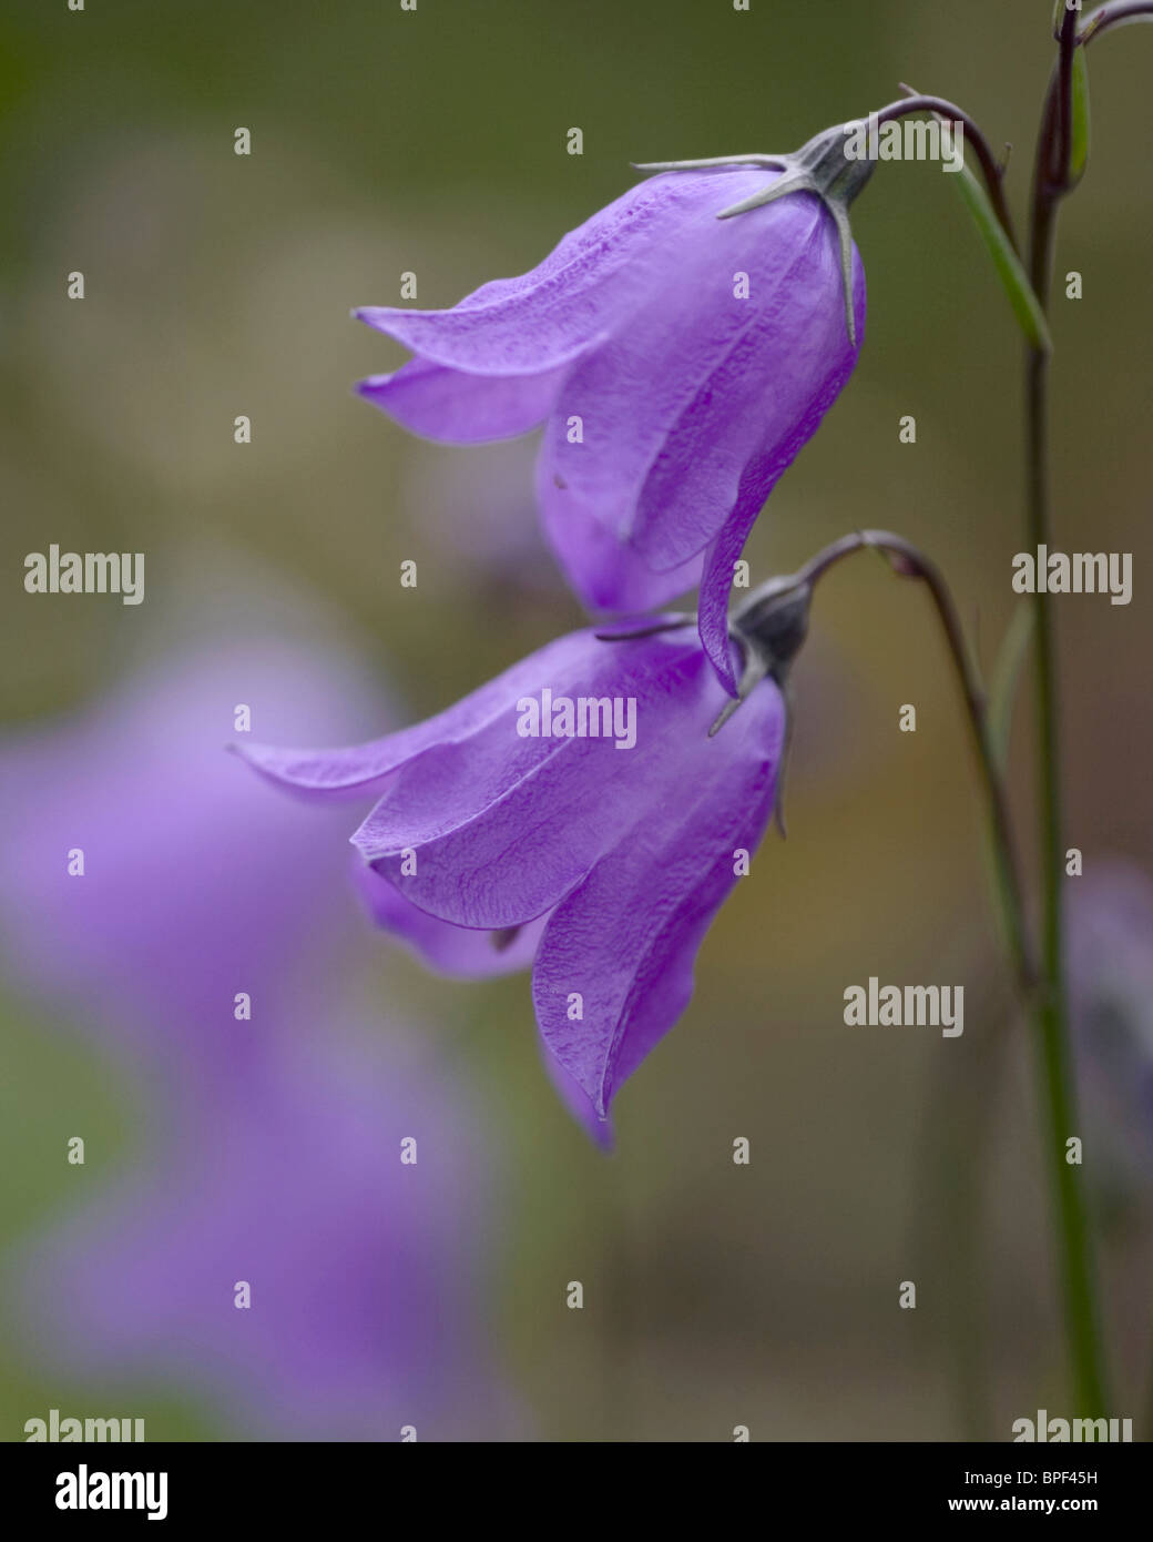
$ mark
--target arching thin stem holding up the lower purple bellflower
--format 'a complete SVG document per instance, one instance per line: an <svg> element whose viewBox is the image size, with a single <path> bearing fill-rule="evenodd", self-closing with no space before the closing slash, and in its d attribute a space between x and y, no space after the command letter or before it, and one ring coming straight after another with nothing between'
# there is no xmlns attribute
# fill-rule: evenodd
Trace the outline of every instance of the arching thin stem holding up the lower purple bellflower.
<svg viewBox="0 0 1153 1542"><path fill-rule="evenodd" d="M957 606L953 601L945 578L936 563L922 555L916 546L891 530L856 530L845 535L825 550L819 552L797 574L798 584L815 588L817 580L843 557L865 549L885 552L897 572L908 578L920 580L933 597L937 618L945 632L953 668L965 700L973 745L977 752L985 796L988 800L990 828L993 834L993 851L997 865L997 888L1005 913L1005 927L1010 941L1010 953L1017 976L1017 984L1025 998L1030 998L1037 981L1037 965L1033 958L1033 945L1025 924L1025 901L1020 885L1020 868L1017 864L1017 847L1013 833L1013 816L1010 811L1005 780L990 723L985 688L980 683L977 666L965 641Z"/></svg>

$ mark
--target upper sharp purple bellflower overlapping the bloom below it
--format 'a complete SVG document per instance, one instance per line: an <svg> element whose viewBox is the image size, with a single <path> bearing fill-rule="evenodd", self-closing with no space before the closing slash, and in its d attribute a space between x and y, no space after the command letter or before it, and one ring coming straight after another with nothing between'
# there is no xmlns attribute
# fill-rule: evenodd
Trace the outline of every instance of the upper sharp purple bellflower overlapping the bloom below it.
<svg viewBox="0 0 1153 1542"><path fill-rule="evenodd" d="M359 386L404 427L473 444L544 424L541 518L590 611L701 583L701 640L729 692L734 561L865 327L846 210L872 163L845 146L831 128L791 156L641 168L661 174L523 278L452 310L356 311L415 355Z"/></svg>

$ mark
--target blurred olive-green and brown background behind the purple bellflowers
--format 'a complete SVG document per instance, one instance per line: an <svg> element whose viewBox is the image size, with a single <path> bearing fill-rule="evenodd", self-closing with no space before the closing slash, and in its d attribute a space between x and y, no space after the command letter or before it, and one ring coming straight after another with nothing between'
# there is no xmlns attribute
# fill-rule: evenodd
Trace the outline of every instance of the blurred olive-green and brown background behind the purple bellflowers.
<svg viewBox="0 0 1153 1542"><path fill-rule="evenodd" d="M896 97L957 100L1014 145L1024 222L1050 0L18 0L0 22L0 715L92 699L163 637L190 563L311 591L412 719L580 611L541 552L524 444L405 436L353 381L402 350L353 305L422 307L521 273L618 196L629 162L791 150ZM1136 600L1057 609L1068 840L1145 865L1144 603L1150 483L1153 40L1091 54L1093 148L1061 227L1054 495L1067 550L1135 554ZM1135 57L1141 56L1141 57ZM251 130L250 157L233 131ZM570 126L584 154L566 154ZM854 207L869 285L849 387L746 555L788 571L860 526L945 569L988 666L1022 530L1022 345L933 165L879 168ZM65 276L86 276L82 304ZM253 443L233 443L251 416ZM897 421L917 419L902 446ZM22 591L49 541L146 555L139 609ZM401 589L416 558L419 588ZM146 612L146 628L145 628ZM305 638L310 614L281 625ZM148 638L148 641L145 641ZM789 839L766 839L715 924L695 999L617 1103L603 1158L538 1061L527 981L388 992L453 1030L503 1150L490 1217L495 1354L543 1439L1010 1436L1062 1406L1034 1067L987 901L965 723L925 598L868 557L828 580L797 666ZM916 734L897 731L916 703ZM1031 845L1028 714L1014 790ZM302 811L302 817L307 813ZM381 939L381 950L392 951ZM963 982L965 1035L848 1030L842 993ZM399 984L398 984L399 982ZM384 985L381 987L384 990ZM8 1005L5 1007L5 999ZM69 1201L49 1132L83 1109L109 1161L131 1084L0 996L0 1240ZM18 1109L18 1118L11 1116ZM732 1164L748 1136L749 1167ZM974 1227L974 1214L979 1221ZM1101 1212L1118 1414L1148 1363L1148 1190ZM570 1278L586 1309L563 1309ZM897 1309L917 1283L917 1309ZM99 1389L39 1379L0 1340L0 1431ZM123 1402L122 1399L119 1400ZM228 1426L179 1383L143 1389L150 1439ZM136 1405L134 1405L136 1406Z"/></svg>

